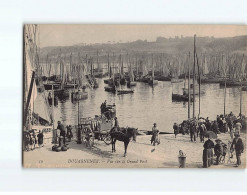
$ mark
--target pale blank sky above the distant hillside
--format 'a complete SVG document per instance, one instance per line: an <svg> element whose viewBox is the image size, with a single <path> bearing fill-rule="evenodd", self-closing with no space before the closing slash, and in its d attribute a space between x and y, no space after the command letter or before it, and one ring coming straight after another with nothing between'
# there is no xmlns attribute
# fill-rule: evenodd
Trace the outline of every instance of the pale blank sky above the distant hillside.
<svg viewBox="0 0 247 195"><path fill-rule="evenodd" d="M158 36L234 37L247 35L244 25L114 25L114 24L41 24L40 47L71 46L81 43L155 41Z"/></svg>

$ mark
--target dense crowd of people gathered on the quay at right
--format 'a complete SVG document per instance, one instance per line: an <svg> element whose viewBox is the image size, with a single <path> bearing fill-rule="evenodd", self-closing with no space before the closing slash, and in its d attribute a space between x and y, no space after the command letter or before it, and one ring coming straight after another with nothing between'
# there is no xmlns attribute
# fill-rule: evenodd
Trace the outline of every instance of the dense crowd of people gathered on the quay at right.
<svg viewBox="0 0 247 195"><path fill-rule="evenodd" d="M173 130L175 138L179 133L190 134L190 141L196 142L200 138L200 142L204 143L203 147L203 167L210 167L213 164L214 157L215 165L225 162L225 156L229 153L228 157L233 157L233 152L236 154L236 166L241 164L240 156L244 151L244 144L240 138L240 131L245 125L245 116L239 114L236 117L232 112L228 115L217 115L216 120L210 121L209 118L193 118L191 120L185 120L180 125L174 123ZM245 127L244 127L245 128ZM214 142L212 138L217 138L218 134L229 133L229 143L224 143L220 139L216 139ZM205 137L208 140L204 140ZM205 142L204 142L205 141Z"/></svg>

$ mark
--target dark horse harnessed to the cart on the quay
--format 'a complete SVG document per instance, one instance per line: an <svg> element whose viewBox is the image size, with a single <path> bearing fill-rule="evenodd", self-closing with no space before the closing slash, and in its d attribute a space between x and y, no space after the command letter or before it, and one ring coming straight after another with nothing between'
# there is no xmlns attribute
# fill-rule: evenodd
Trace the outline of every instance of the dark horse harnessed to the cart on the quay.
<svg viewBox="0 0 247 195"><path fill-rule="evenodd" d="M136 141L136 135L137 135L138 128L131 128L131 127L113 127L110 131L111 135L111 144L112 144L112 152L116 152L115 144L116 141L122 141L124 142L124 157L127 153L128 144L130 142L130 139L133 137L133 140Z"/></svg>

